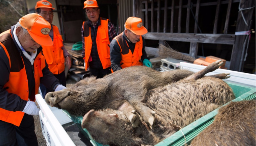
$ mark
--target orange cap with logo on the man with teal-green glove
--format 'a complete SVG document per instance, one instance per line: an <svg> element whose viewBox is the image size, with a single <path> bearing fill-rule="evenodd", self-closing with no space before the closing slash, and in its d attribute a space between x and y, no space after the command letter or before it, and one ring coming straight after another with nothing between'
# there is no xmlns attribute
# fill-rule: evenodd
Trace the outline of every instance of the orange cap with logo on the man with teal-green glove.
<svg viewBox="0 0 256 146"><path fill-rule="evenodd" d="M142 20L137 17L129 17L124 27L132 31L135 35L145 35L147 33L147 29L143 26Z"/></svg>

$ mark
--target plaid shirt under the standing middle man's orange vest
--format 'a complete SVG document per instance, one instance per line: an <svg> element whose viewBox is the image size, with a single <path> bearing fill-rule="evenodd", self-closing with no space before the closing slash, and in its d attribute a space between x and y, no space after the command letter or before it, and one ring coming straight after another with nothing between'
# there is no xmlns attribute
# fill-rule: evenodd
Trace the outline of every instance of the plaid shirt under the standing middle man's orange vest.
<svg viewBox="0 0 256 146"><path fill-rule="evenodd" d="M93 26L93 28L98 27L98 22L99 22L99 20L97 21L97 23L95 25L93 25L92 21L89 20L89 23L90 23L91 26ZM113 40L113 38L116 37L116 30L115 30L115 28L114 28L114 26L112 25L111 22L109 22L107 24L107 27L109 29L109 43L110 43ZM81 31L82 31L82 44L83 44L82 56L85 57L85 38L83 36L83 26L82 26L82 30Z"/></svg>

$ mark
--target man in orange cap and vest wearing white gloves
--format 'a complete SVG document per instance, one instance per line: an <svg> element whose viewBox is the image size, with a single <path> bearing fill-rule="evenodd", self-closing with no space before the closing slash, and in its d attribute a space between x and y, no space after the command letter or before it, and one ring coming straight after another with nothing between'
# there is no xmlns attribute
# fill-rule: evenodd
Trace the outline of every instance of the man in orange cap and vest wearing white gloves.
<svg viewBox="0 0 256 146"><path fill-rule="evenodd" d="M52 91L65 89L50 72L42 47L52 46L51 25L28 14L0 34L0 146L38 146L33 115L40 82Z"/></svg>

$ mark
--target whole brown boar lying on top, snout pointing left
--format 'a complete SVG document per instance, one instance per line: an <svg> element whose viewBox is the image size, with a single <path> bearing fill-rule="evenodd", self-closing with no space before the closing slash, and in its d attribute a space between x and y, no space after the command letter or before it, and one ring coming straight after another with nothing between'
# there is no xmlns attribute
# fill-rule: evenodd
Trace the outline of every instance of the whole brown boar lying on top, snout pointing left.
<svg viewBox="0 0 256 146"><path fill-rule="evenodd" d="M187 70L158 72L144 66L133 66L106 75L101 79L95 77L79 81L68 89L47 93L45 101L74 115L84 115L89 110L111 108L122 111L133 127L139 125L140 120L154 126L155 111L143 103L151 89L175 83L181 79L201 78L206 73L219 68L223 64L216 61L195 74ZM228 78L228 74L213 75L217 78ZM129 108L122 108L123 104ZM126 106L127 107L127 106Z"/></svg>

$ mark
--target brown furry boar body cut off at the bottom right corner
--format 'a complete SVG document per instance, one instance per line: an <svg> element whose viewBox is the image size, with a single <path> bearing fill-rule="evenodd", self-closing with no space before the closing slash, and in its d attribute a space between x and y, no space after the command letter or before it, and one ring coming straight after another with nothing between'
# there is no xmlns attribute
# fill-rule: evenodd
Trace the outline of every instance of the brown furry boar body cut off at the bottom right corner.
<svg viewBox="0 0 256 146"><path fill-rule="evenodd" d="M191 146L255 146L255 100L231 102L219 109L214 122Z"/></svg>

